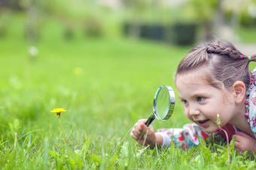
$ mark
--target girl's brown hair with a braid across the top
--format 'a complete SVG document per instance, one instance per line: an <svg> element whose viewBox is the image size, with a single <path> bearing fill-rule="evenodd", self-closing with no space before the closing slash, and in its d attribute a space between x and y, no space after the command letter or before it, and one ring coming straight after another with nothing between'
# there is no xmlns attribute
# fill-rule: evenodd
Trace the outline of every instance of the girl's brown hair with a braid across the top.
<svg viewBox="0 0 256 170"><path fill-rule="evenodd" d="M176 76L204 66L209 68L208 82L216 88L228 88L236 81L242 81L247 86L250 82L250 61L256 61L256 55L248 57L232 43L218 40L191 49L178 64Z"/></svg>

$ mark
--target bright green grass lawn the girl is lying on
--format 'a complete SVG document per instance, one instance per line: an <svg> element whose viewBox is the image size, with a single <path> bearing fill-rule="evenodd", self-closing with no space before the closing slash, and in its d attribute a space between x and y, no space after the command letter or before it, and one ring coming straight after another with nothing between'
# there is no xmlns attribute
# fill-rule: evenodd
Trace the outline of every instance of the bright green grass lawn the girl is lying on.
<svg viewBox="0 0 256 170"><path fill-rule="evenodd" d="M151 115L158 85L174 87L187 48L122 38L66 42L56 31L41 39L31 61L20 29L14 30L0 40L2 169L255 168L254 157L240 156L232 145L229 164L224 146L150 150L131 139L133 124ZM67 110L60 119L50 113L56 107ZM154 127L187 122L177 101L172 118Z"/></svg>

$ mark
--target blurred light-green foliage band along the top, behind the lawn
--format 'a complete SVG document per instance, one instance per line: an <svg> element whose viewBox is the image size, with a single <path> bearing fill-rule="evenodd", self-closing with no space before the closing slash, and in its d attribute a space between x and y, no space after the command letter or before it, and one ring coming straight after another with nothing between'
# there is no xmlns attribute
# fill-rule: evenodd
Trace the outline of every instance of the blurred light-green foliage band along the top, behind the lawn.
<svg viewBox="0 0 256 170"><path fill-rule="evenodd" d="M216 27L213 22L219 14L220 3L223 5L225 25L231 25L232 28L236 23L250 26L254 25L255 19L248 13L248 6L255 4L255 1L245 0L241 3L240 0L187 0L166 5L160 0L120 0L120 6L116 8L105 5L106 1L104 4L95 0L11 0L8 3L15 4L14 8L18 7L26 13L27 21L23 25L26 37L30 36L29 39L38 39L46 20L52 19L53 22L62 25L62 37L71 40L77 34L92 37L119 36L123 22L127 21L137 25L141 23L175 25L189 22L189 24L200 24L200 28L203 28L200 29L200 33L212 32L211 29ZM29 14L32 8L36 8L35 15ZM4 16L0 16L2 36L8 31L9 22L2 24L6 21Z"/></svg>

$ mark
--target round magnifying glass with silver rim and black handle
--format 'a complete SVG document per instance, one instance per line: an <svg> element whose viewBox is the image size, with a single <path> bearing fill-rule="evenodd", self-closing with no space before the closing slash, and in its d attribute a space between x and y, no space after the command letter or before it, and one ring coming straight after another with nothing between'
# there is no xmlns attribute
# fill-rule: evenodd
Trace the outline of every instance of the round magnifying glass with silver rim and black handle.
<svg viewBox="0 0 256 170"><path fill-rule="evenodd" d="M148 127L155 118L167 120L171 117L175 106L175 94L171 87L160 85L154 94L153 114L145 122Z"/></svg>

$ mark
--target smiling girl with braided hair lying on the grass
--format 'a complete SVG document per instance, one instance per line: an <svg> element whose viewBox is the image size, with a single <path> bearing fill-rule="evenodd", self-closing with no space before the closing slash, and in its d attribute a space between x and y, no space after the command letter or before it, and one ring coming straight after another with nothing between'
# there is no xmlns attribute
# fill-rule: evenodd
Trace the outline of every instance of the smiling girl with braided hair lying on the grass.
<svg viewBox="0 0 256 170"><path fill-rule="evenodd" d="M139 120L131 136L151 148L190 148L199 145L198 137L208 139L212 133L215 139L226 140L225 130L228 139L235 137L237 151L256 153L256 71L249 73L250 61L256 61L256 55L243 55L224 40L191 49L178 64L175 85L184 113L194 124L154 133L146 120Z"/></svg>

